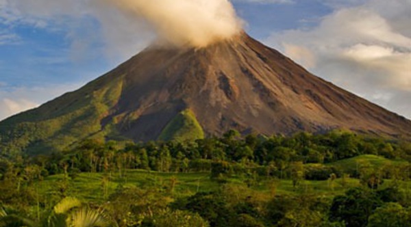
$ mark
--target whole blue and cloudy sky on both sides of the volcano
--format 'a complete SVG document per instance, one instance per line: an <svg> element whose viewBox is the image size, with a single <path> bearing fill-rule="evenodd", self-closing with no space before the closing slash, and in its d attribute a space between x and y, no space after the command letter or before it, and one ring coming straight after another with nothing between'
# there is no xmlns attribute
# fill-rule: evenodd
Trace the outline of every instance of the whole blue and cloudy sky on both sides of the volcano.
<svg viewBox="0 0 411 227"><path fill-rule="evenodd" d="M124 62L153 38L99 0L0 0L0 119ZM251 36L411 118L410 0L233 0Z"/></svg>

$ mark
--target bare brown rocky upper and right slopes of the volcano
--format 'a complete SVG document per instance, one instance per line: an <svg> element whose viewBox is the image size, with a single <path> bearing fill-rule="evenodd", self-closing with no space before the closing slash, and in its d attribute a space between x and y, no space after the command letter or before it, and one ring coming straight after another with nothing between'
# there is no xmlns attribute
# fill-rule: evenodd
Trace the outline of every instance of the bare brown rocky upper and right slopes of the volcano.
<svg viewBox="0 0 411 227"><path fill-rule="evenodd" d="M194 111L208 135L241 132L322 132L410 136L411 122L315 77L281 53L243 33L206 49L149 48L108 77L125 76L111 116L135 140L158 137L179 111Z"/></svg>

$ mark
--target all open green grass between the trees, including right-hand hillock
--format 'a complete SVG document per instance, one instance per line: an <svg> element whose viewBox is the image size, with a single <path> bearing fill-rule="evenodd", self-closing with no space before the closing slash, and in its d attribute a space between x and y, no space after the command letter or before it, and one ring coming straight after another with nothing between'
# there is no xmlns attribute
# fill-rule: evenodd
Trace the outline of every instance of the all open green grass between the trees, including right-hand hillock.
<svg viewBox="0 0 411 227"><path fill-rule="evenodd" d="M358 165L369 163L375 168L382 168L388 164L399 164L404 161L392 161L384 157L374 155L362 155L351 159L328 163L340 170L349 171L356 170ZM188 172L188 173L162 173L147 170L126 170L123 176L119 172L111 172L108 174L110 181L104 185L103 173L81 173L74 180L69 178L67 196L75 196L77 198L99 202L106 199L108 195L114 193L119 185L124 187L155 187L168 190L171 181L175 179L177 182L173 193L175 196L187 196L199 191L216 191L221 187L222 183L212 180L208 172ZM64 178L63 174L48 176L38 183L39 192L42 195L57 193L58 185ZM107 177L106 177L107 178ZM260 191L261 193L296 194L296 193L315 193L319 196L336 196L343 194L349 187L360 186L360 181L357 178L337 178L334 182L331 181L301 181L297 188L293 187L292 181L280 180L275 178L260 177L251 180L242 176L231 176L225 178L225 183L232 185L247 185L250 189ZM391 184L390 180L384 180L382 187L387 187ZM402 183L402 187L411 188L411 183Z"/></svg>

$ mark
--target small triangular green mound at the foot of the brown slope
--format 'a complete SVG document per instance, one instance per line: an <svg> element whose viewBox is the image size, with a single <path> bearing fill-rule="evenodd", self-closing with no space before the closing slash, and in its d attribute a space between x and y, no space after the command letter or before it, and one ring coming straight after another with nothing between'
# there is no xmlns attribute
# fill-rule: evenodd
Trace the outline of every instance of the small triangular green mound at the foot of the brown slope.
<svg viewBox="0 0 411 227"><path fill-rule="evenodd" d="M186 141L203 139L204 132L201 125L197 121L195 114L186 109L177 114L173 120L166 125L158 139L162 141Z"/></svg>

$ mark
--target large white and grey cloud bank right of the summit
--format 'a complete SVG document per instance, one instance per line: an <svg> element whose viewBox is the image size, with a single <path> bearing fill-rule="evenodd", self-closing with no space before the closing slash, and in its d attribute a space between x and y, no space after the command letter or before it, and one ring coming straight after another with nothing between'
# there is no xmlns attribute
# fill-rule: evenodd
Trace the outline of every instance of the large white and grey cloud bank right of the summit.
<svg viewBox="0 0 411 227"><path fill-rule="evenodd" d="M316 75L411 118L410 19L409 0L368 0L338 5L314 29L273 34L266 43Z"/></svg>

